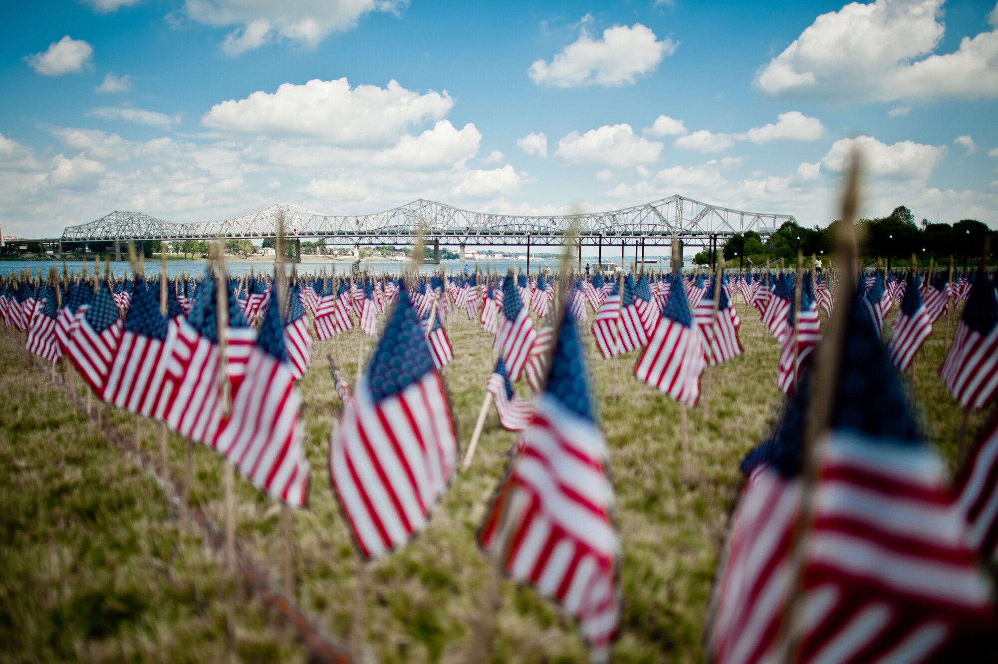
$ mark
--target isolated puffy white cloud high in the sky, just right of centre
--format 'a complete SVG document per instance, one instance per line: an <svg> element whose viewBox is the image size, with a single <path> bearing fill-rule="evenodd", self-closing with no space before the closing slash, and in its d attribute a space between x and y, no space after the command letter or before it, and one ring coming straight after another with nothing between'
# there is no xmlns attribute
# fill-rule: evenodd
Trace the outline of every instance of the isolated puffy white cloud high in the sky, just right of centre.
<svg viewBox="0 0 998 664"><path fill-rule="evenodd" d="M602 39L593 39L583 25L579 39L551 62L534 61L527 74L534 83L554 88L632 85L652 74L676 46L668 37L658 41L651 28L641 23L607 28Z"/></svg>

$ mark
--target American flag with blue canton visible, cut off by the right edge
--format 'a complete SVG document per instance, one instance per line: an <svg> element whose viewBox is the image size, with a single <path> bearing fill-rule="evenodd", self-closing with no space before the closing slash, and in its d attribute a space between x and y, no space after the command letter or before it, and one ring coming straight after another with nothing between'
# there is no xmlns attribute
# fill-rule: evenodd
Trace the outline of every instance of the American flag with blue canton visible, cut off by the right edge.
<svg viewBox="0 0 998 664"><path fill-rule="evenodd" d="M953 398L975 411L998 390L998 294L983 270L970 288L939 374Z"/></svg>

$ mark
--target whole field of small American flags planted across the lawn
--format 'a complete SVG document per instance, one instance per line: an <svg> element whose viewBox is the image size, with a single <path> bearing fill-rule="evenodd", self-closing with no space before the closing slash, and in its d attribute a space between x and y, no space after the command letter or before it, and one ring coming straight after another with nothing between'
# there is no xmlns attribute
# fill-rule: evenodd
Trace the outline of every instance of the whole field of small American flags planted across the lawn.
<svg viewBox="0 0 998 664"><path fill-rule="evenodd" d="M220 285L211 274L199 283L185 280L186 312L176 282L137 278L126 301L115 299L106 280L96 287L53 280L33 289L29 312L22 306L28 298L18 299L21 284L5 283L0 313L17 327L20 318L3 312L20 311L28 348L40 356L47 346L39 340L54 337L99 398L213 447L260 491L296 506L307 505L310 489L296 385L312 349L306 311L318 338L320 326L335 335L352 329L356 319L377 341L352 389L333 370L343 409L330 439L328 470L359 554L373 558L422 529L454 479L459 444L441 373L453 349L442 322L465 311L495 337L497 362L486 389L500 424L522 432L478 542L511 578L574 615L599 652L619 633L621 557L609 454L580 333L588 322L586 305L596 313L590 329L597 346L602 340L608 349L601 355L640 350L636 377L695 405L703 370L742 354L741 321L731 299L742 292L781 344L778 376L791 377L785 390L791 402L773 439L743 467L748 481L715 596L716 660L771 657L794 583L810 611L800 661L866 661L855 654L874 652L912 652L910 660L898 661L928 661L987 635L983 626L993 607L976 556L993 556L998 542L998 442L992 426L962 479L944 486L938 461L899 396L895 373L900 364L894 356L917 351L906 339L924 334L915 327L921 323L909 325L914 336L899 333L901 316L931 318L919 299L926 288L918 274L893 290L901 293L891 339L898 339L896 351L880 341L891 306L882 274L861 279L850 306L834 314L848 316L848 325L812 547L798 581L781 570L788 568L803 491L799 441L810 394L808 358L820 343L819 293L835 288L829 290L823 275L801 278L799 312L787 274L772 280L623 275L606 281L597 275L559 284L558 307L554 284L543 275L536 281L512 273L483 281L302 279L286 284L286 313L277 283L238 281ZM998 293L986 272L967 281L966 306L942 373L962 405L982 408L993 401L998 382ZM530 311L540 315L538 301L547 309L535 330ZM379 332L382 313L387 317ZM42 316L53 321L49 333ZM442 335L431 338L438 330ZM524 376L536 400L513 389ZM917 583L910 580L915 570L923 574Z"/></svg>

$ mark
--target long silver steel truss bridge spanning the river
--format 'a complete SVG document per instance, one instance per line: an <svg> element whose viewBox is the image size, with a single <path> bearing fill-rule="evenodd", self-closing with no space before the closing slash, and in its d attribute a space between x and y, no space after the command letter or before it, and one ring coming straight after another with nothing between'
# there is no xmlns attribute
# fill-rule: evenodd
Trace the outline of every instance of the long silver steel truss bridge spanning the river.
<svg viewBox="0 0 998 664"><path fill-rule="evenodd" d="M295 205L275 204L218 221L173 223L141 212L115 211L96 221L68 226L62 244L134 240L186 240L275 237L280 222L289 238L323 244L391 245L424 242L450 245L555 245L567 234L581 244L663 245L679 238L706 246L712 239L753 230L763 238L791 214L747 212L673 195L644 205L577 215L523 216L472 212L419 199L363 215L319 214Z"/></svg>

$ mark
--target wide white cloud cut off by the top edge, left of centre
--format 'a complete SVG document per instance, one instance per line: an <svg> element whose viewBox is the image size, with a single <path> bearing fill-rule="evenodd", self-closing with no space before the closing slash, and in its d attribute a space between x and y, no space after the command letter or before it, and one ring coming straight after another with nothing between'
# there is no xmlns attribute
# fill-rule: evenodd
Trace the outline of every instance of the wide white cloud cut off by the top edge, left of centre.
<svg viewBox="0 0 998 664"><path fill-rule="evenodd" d="M331 33L353 28L365 14L397 15L407 4L407 0L187 0L184 9L199 23L235 26L223 48L237 55L278 39L314 48Z"/></svg>

